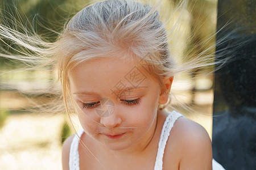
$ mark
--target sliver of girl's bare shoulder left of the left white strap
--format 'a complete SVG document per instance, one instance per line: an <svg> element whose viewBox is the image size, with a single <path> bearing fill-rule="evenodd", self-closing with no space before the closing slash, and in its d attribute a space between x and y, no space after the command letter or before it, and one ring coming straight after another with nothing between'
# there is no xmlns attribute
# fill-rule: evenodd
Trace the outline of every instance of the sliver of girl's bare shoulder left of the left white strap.
<svg viewBox="0 0 256 170"><path fill-rule="evenodd" d="M63 170L69 169L69 151L70 151L71 143L73 141L74 136L75 136L75 134L71 135L63 143L63 147L62 147L62 166L63 166Z"/></svg>

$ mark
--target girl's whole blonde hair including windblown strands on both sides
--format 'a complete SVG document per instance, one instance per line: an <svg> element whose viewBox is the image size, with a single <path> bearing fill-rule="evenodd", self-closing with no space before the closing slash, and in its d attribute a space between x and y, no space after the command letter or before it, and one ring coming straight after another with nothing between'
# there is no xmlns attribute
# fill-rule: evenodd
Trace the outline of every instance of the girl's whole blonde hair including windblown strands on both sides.
<svg viewBox="0 0 256 170"><path fill-rule="evenodd" d="M186 2L181 1L176 5L176 10L171 12L173 18L177 11L180 15L183 14ZM69 91L68 71L92 58L127 52L125 57L135 56L137 61L150 65L148 70L158 78L160 86L163 85L163 76L213 65L208 61L212 61L214 56L203 56L204 53L189 60L185 65L175 65L175 54L170 52L174 44L170 45L168 36L171 35L172 41L178 39L175 30L180 29L181 18L168 18L167 23L171 23L172 27L167 32L167 23L160 22L158 7L159 5L150 7L140 2L125 0L94 3L73 16L56 42L45 42L35 32L27 32L25 27L23 29L26 34L1 24L0 40L5 42L3 39L8 39L27 49L18 51L21 55L16 56L2 49L1 56L18 59L32 67L55 67L62 84L67 112L75 105Z"/></svg>

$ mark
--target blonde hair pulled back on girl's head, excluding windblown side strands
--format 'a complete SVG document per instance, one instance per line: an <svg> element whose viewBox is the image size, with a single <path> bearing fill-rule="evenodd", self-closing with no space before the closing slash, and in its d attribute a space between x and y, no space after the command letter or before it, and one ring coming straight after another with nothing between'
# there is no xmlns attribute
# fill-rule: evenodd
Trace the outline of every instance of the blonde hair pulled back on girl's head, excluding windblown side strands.
<svg viewBox="0 0 256 170"><path fill-rule="evenodd" d="M91 58L125 51L151 63L151 74L159 80L160 75L171 73L174 65L158 11L133 1L103 1L84 8L69 21L56 44L65 100L71 97L68 70Z"/></svg>

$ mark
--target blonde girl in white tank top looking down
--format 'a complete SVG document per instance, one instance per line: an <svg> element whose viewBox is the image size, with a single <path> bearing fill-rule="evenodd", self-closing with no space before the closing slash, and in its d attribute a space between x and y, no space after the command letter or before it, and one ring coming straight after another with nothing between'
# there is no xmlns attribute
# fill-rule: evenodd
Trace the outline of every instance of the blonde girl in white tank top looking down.
<svg viewBox="0 0 256 170"><path fill-rule="evenodd" d="M67 112L82 126L64 142L63 169L222 169L204 128L163 109L177 67L155 8L94 3L44 50L52 52Z"/></svg>

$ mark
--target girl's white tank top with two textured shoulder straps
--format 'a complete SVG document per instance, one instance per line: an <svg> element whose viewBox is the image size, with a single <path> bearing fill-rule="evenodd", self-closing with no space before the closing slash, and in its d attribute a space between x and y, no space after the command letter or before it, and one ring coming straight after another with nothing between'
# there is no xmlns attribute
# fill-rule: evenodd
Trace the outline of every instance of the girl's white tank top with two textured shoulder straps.
<svg viewBox="0 0 256 170"><path fill-rule="evenodd" d="M174 126L175 121L182 117L183 115L172 111L170 114L168 114L166 121L164 121L164 125L162 128L162 132L160 135L160 140L158 143L158 153L156 155L155 160L155 168L154 170L162 170L163 168L163 155L164 155L164 148L166 147L166 142L168 140L168 137L170 135L170 131L172 127ZM84 130L81 129L77 132L77 135L73 138L73 141L71 143L70 151L69 151L69 169L70 170L80 170L79 168L79 140L84 133ZM214 159L212 161L213 170L225 170L220 164L218 164Z"/></svg>

